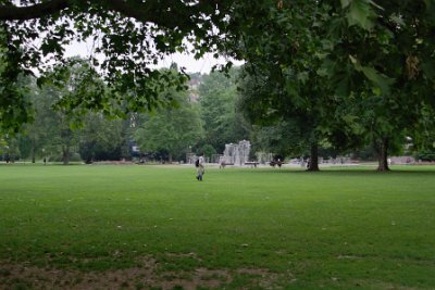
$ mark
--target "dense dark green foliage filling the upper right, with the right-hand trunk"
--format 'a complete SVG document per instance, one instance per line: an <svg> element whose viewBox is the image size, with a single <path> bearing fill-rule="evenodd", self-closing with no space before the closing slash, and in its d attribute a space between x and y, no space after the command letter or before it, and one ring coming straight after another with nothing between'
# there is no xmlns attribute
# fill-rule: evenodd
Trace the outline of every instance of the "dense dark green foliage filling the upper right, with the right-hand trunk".
<svg viewBox="0 0 435 290"><path fill-rule="evenodd" d="M261 16L253 20L234 18L247 27L235 54L247 59L247 72L260 79L246 90L253 96L250 102L245 99L254 112L251 119L314 116L316 138L327 137L340 148L361 144L358 136L382 140L380 162L386 164L386 141L412 131L422 108L433 104L433 5L278 3L260 5L256 13Z"/></svg>

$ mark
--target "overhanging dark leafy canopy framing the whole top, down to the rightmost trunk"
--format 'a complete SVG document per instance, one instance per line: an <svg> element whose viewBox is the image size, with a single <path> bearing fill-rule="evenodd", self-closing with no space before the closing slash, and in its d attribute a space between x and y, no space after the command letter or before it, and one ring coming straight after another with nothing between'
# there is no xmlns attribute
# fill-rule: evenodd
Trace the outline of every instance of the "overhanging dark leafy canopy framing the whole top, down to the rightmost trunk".
<svg viewBox="0 0 435 290"><path fill-rule="evenodd" d="M268 76L273 89L253 103L262 118L308 119L311 141L370 136L387 169L391 139L433 116L434 15L434 0L0 0L1 125L29 119L20 77L36 68L39 84L62 76L72 41L92 41L82 79L98 72L105 87L99 98L83 93L62 106L121 115L173 104L162 92L186 88L183 70L152 68L161 58L211 51Z"/></svg>

